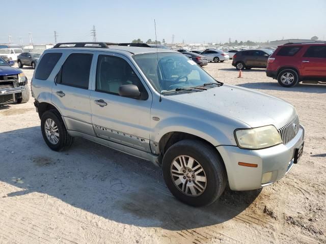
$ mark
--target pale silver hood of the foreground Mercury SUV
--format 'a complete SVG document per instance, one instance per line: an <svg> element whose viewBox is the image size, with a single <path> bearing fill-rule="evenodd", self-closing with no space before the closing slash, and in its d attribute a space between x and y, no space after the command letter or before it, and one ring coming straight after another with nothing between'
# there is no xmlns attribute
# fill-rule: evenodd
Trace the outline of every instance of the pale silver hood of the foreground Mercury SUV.
<svg viewBox="0 0 326 244"><path fill-rule="evenodd" d="M203 92L171 95L169 98L238 119L253 128L274 125L279 129L296 114L294 107L282 99L233 85L224 84Z"/></svg>

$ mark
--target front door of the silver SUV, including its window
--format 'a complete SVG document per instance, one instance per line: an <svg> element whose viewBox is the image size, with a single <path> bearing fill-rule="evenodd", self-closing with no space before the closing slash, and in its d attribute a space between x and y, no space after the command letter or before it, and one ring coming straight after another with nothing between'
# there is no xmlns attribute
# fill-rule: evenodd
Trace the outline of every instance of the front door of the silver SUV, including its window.
<svg viewBox="0 0 326 244"><path fill-rule="evenodd" d="M130 60L98 53L96 78L90 95L92 123L97 137L150 151L152 96ZM141 99L119 96L119 87L135 84Z"/></svg>

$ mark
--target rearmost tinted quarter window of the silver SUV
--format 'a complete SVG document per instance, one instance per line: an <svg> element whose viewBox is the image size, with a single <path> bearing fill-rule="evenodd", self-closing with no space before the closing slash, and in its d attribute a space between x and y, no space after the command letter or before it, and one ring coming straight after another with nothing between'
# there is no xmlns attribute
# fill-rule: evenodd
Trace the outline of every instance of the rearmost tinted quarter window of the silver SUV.
<svg viewBox="0 0 326 244"><path fill-rule="evenodd" d="M39 80L46 80L49 78L49 75L51 74L53 68L55 68L61 56L61 52L45 53L35 71L35 78Z"/></svg>

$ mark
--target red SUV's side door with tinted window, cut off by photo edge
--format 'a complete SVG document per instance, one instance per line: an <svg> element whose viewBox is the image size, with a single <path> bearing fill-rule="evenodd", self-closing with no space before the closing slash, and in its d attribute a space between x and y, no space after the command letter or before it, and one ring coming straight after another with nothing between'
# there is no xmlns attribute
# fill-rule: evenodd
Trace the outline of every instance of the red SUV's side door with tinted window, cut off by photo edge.
<svg viewBox="0 0 326 244"><path fill-rule="evenodd" d="M306 78L326 79L326 45L312 45L301 58L301 75Z"/></svg>

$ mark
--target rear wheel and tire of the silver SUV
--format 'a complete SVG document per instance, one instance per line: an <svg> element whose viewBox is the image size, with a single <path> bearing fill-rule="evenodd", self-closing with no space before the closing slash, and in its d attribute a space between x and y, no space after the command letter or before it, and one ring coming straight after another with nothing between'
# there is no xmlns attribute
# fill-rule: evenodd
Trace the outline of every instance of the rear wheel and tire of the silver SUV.
<svg viewBox="0 0 326 244"><path fill-rule="evenodd" d="M74 141L74 138L67 132L61 114L55 109L43 113L41 130L45 143L54 151L66 150Z"/></svg>

